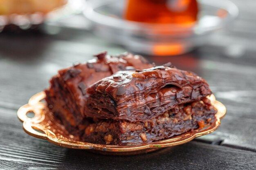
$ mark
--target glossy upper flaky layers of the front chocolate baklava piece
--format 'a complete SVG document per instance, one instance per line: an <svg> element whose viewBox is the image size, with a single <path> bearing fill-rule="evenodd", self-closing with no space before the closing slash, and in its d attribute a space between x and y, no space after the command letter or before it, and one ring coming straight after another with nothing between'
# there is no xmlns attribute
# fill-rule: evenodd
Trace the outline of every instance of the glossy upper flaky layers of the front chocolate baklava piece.
<svg viewBox="0 0 256 170"><path fill-rule="evenodd" d="M211 95L207 82L189 71L165 66L119 71L87 89L84 114L148 121L178 104L199 101L207 95Z"/></svg>

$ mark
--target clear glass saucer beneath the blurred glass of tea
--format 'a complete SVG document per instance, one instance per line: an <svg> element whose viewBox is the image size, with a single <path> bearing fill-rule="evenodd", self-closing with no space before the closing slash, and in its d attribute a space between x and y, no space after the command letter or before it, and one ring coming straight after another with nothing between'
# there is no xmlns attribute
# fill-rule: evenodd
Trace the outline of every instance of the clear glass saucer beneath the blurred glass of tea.
<svg viewBox="0 0 256 170"><path fill-rule="evenodd" d="M130 51L148 55L178 55L204 44L214 31L229 25L237 6L229 0L198 0L198 21L191 27L124 20L126 0L87 0L83 14L94 32Z"/></svg>

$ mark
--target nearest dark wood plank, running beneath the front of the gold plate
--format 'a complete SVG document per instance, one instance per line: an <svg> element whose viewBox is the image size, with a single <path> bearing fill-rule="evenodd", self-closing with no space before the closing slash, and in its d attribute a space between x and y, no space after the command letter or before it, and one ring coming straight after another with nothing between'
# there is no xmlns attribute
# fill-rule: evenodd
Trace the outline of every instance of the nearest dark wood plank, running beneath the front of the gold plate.
<svg viewBox="0 0 256 170"><path fill-rule="evenodd" d="M62 148L27 135L16 110L0 108L1 169L254 169L256 152L189 142L173 148L134 156L104 156Z"/></svg>

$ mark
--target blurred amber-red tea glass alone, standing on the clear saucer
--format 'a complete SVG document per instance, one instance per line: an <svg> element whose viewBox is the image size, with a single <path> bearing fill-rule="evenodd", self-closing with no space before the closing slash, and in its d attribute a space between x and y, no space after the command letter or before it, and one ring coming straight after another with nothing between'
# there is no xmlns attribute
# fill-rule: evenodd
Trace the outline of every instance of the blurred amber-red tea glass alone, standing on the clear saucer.
<svg viewBox="0 0 256 170"><path fill-rule="evenodd" d="M198 18L196 0L127 0L126 20L191 26Z"/></svg>

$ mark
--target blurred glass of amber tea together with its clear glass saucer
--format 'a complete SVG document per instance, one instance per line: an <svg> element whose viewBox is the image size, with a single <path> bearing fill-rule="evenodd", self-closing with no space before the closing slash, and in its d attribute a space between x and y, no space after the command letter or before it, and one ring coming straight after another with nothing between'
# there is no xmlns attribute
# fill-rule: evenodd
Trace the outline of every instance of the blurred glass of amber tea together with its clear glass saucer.
<svg viewBox="0 0 256 170"><path fill-rule="evenodd" d="M238 8L230 0L87 0L92 30L129 51L179 55L230 25Z"/></svg>

